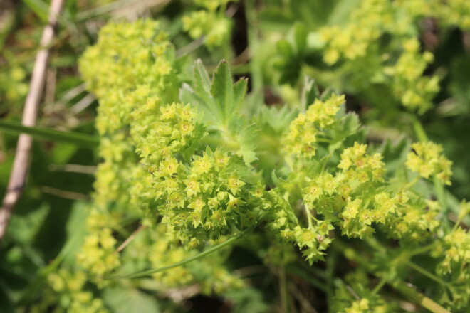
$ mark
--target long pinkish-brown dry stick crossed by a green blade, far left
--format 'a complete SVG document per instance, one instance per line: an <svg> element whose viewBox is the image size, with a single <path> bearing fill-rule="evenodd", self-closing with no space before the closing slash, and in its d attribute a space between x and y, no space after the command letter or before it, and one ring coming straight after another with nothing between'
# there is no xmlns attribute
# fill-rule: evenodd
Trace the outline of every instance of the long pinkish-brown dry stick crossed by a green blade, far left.
<svg viewBox="0 0 470 313"><path fill-rule="evenodd" d="M54 28L57 25L57 16L61 13L63 1L64 0L52 0L51 2L48 16L49 23L46 28L44 28L40 43L41 47L48 47L52 42ZM42 48L38 52L38 55L36 55L31 84L23 110L23 125L25 126L34 126L38 119L38 107L44 89L49 52L48 48ZM13 169L11 170L9 184L0 209L0 240L5 235L6 226L8 226L10 221L11 213L13 213L14 206L23 192L26 176L28 175L32 143L33 139L31 136L26 134L19 136Z"/></svg>

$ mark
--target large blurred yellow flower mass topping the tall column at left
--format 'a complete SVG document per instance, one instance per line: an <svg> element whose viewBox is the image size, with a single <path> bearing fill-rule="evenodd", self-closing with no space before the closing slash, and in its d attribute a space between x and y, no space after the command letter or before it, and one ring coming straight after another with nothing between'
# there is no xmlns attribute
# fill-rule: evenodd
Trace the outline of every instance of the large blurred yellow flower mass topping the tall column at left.
<svg viewBox="0 0 470 313"><path fill-rule="evenodd" d="M169 96L177 92L169 87L174 77L169 47L167 35L156 21L103 27L98 43L80 59L80 72L100 99L96 121L100 134L117 132L129 124L132 108L145 103L150 95L160 90Z"/></svg>

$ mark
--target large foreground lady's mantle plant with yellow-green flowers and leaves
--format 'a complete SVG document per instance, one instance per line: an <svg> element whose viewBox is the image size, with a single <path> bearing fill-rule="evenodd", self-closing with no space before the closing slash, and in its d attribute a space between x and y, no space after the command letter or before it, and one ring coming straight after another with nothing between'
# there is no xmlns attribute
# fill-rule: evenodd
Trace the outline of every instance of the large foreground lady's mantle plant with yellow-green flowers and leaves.
<svg viewBox="0 0 470 313"><path fill-rule="evenodd" d="M367 144L345 96L311 83L301 103L268 107L245 99L247 80L233 83L225 61L212 76L200 60L188 69L150 20L108 24L83 55L103 161L77 263L49 276L36 309L106 312L113 288L246 287L230 248L197 257L243 233L241 247L269 268L326 260L331 312L397 312L399 292L433 312L466 312L469 206L449 221L440 191L451 161L439 144ZM344 266L330 267L330 254ZM128 274L152 280L124 283Z"/></svg>

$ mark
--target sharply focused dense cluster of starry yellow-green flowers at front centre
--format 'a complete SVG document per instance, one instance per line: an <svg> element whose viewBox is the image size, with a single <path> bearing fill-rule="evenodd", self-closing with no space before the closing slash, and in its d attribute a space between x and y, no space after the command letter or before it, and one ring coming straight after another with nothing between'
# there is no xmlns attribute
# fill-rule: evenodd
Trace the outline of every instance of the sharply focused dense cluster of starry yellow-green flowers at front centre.
<svg viewBox="0 0 470 313"><path fill-rule="evenodd" d="M194 155L188 166L172 157L160 161L154 175L162 222L181 240L202 242L251 226L255 218L247 206L246 171L241 157L220 150Z"/></svg>

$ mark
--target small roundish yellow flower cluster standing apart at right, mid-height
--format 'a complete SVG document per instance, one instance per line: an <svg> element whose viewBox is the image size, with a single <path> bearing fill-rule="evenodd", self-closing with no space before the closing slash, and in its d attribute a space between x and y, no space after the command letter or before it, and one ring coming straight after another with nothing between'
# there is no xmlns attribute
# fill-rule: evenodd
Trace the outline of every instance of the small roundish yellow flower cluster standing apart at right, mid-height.
<svg viewBox="0 0 470 313"><path fill-rule="evenodd" d="M413 152L407 155L406 165L419 176L429 179L436 176L443 184L450 185L452 162L442 154L442 146L434 142L417 142L412 144Z"/></svg>

